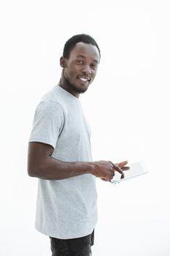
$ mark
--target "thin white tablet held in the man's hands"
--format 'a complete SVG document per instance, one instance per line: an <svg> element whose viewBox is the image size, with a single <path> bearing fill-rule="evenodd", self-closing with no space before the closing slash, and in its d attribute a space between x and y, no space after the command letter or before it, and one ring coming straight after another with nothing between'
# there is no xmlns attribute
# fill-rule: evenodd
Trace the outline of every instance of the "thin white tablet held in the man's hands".
<svg viewBox="0 0 170 256"><path fill-rule="evenodd" d="M144 165L144 162L135 162L134 164L127 165L127 167L130 167L130 169L123 171L125 178L120 178L121 174L115 171L115 176L112 178L112 181L111 181L112 184L117 184L122 181L126 181L129 178L135 178L137 176L141 176L143 174L148 173L148 170Z"/></svg>

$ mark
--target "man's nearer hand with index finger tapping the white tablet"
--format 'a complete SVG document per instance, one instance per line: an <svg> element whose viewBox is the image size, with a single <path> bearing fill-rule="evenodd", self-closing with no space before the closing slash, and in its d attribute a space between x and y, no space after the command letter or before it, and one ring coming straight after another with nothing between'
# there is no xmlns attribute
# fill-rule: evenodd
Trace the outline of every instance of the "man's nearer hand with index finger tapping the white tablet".
<svg viewBox="0 0 170 256"><path fill-rule="evenodd" d="M124 178L123 170L121 167L124 168L124 165L127 163L127 161L124 161L115 165L111 161L96 161L93 162L92 174L98 178L101 178L103 181L111 181L115 176L115 171L117 171L122 175L121 178Z"/></svg>

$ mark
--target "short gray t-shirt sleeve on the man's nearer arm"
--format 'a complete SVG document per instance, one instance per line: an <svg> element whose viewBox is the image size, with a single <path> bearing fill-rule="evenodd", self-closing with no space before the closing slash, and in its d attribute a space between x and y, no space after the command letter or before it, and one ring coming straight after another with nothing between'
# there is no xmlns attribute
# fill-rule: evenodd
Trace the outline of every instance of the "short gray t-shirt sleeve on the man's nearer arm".
<svg viewBox="0 0 170 256"><path fill-rule="evenodd" d="M34 114L29 142L46 143L55 148L63 124L63 108L58 102L40 102Z"/></svg>

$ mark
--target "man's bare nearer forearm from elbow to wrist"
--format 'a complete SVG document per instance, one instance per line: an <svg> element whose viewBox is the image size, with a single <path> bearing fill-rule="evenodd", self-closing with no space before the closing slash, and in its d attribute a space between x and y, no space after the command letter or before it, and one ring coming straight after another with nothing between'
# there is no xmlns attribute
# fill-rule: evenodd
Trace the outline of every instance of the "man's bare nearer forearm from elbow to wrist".
<svg viewBox="0 0 170 256"><path fill-rule="evenodd" d="M87 173L93 173L93 162L62 162L47 157L39 166L28 166L29 176L48 180L61 180Z"/></svg>

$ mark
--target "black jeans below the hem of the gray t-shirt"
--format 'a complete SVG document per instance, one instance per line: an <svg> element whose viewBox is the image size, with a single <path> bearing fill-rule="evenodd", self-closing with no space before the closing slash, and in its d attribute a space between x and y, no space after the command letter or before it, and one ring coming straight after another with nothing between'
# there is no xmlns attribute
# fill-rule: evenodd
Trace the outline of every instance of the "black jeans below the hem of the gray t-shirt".
<svg viewBox="0 0 170 256"><path fill-rule="evenodd" d="M73 239L50 237L52 256L90 256L94 244L94 230L88 236Z"/></svg>

